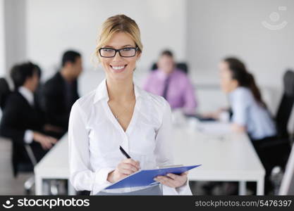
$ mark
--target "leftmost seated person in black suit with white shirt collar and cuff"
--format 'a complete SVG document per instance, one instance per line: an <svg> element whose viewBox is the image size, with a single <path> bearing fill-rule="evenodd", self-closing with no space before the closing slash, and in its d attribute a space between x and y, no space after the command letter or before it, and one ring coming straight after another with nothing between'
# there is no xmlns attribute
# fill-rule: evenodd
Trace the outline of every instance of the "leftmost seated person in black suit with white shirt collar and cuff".
<svg viewBox="0 0 294 211"><path fill-rule="evenodd" d="M15 89L5 102L0 134L13 141L14 175L20 161L30 162L25 151L25 144L30 145L38 162L56 143L54 137L47 136L45 133L54 132L58 128L45 124L44 115L34 96L40 77L37 68L37 65L29 62L15 65L11 69Z"/></svg>

